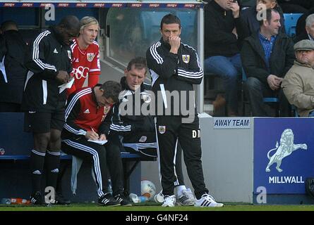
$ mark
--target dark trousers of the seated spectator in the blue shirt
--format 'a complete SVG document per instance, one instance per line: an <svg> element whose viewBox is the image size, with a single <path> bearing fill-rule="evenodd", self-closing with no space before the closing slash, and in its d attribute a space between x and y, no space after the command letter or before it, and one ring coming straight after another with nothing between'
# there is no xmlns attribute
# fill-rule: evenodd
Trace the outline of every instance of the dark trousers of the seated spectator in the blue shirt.
<svg viewBox="0 0 314 225"><path fill-rule="evenodd" d="M280 117L291 116L291 109L289 107L289 102L284 96L282 89L278 91L272 91L270 86L266 86L259 79L255 77L248 77L244 88L246 91L246 96L248 96L248 101L250 101L250 108L252 110L253 117L270 117L269 111L267 111L267 106L263 102L264 97L277 97L279 98L279 110Z"/></svg>

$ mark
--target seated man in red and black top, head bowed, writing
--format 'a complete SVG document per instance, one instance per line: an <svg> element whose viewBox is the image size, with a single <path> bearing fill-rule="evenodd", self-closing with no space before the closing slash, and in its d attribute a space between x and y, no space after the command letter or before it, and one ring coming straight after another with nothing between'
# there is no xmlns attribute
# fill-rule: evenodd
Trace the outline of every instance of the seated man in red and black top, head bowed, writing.
<svg viewBox="0 0 314 225"><path fill-rule="evenodd" d="M112 105L119 101L121 86L117 82L105 82L95 87L75 91L66 105L66 124L61 134L62 150L78 158L92 161L97 184L99 205L131 205L123 193L123 169L120 148L107 139L103 121ZM95 143L92 141L98 141ZM111 175L113 195L109 193L108 172Z"/></svg>

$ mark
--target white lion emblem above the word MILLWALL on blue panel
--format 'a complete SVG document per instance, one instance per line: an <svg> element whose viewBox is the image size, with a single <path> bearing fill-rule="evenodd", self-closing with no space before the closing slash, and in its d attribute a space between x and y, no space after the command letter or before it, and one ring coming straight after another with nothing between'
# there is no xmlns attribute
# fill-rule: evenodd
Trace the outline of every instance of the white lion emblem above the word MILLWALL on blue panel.
<svg viewBox="0 0 314 225"><path fill-rule="evenodd" d="M268 165L266 167L266 172L270 172L270 166L274 164L274 162L277 163L276 169L278 172L282 172L282 169L280 169L280 165L282 165L282 160L288 156L291 155L291 153L294 150L297 150L298 148L301 149L308 149L308 146L306 143L303 144L294 144L294 132L292 132L291 129L285 129L284 132L282 132L282 138L280 139L280 146L278 146L278 141L276 143L276 148L272 148L270 151L267 153L267 158L270 160L268 162ZM273 150L276 150L276 153L270 157L270 153Z"/></svg>

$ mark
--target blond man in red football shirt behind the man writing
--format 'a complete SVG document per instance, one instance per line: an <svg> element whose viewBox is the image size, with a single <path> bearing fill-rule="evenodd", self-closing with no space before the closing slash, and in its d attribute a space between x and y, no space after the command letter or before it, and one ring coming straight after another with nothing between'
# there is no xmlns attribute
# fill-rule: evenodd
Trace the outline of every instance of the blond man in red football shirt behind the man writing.
<svg viewBox="0 0 314 225"><path fill-rule="evenodd" d="M83 87L87 76L87 86L93 87L98 83L100 75L99 45L95 41L98 31L98 21L92 16L85 16L80 20L80 34L71 45L73 66L71 76L75 80L71 89L68 89L68 96Z"/></svg>

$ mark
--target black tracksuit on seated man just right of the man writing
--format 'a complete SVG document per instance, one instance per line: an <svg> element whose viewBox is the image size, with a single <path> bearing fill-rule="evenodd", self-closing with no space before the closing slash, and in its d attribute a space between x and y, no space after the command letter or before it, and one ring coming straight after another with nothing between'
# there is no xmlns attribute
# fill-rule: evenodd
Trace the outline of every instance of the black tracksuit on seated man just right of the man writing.
<svg viewBox="0 0 314 225"><path fill-rule="evenodd" d="M119 96L119 103L116 103L110 110L100 128L104 130L104 134L109 135L109 139L116 140L116 136L120 136L123 146L129 147L126 148L127 151L156 157L154 119L152 115L143 115L140 112L140 108L147 108L149 105L152 92L145 84L142 84L138 90L132 91L126 83L126 77L122 77L120 83L123 91ZM137 98L140 98L139 102L137 102ZM145 102L147 105L144 105Z"/></svg>

